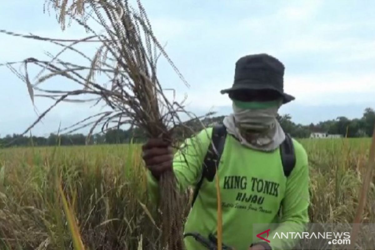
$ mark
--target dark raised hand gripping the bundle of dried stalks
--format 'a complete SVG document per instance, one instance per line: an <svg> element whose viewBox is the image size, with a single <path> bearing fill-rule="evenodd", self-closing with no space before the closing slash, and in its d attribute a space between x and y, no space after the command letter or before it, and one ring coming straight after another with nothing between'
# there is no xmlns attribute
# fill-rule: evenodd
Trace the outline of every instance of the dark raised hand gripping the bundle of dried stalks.
<svg viewBox="0 0 375 250"><path fill-rule="evenodd" d="M172 170L173 150L170 144L161 138L149 139L142 146L142 158L157 180L164 172Z"/></svg>

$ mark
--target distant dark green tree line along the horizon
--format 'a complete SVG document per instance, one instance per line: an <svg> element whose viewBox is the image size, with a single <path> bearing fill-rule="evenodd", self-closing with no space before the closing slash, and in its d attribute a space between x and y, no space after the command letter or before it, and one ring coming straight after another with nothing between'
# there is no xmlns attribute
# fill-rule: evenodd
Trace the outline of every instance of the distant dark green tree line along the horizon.
<svg viewBox="0 0 375 250"><path fill-rule="evenodd" d="M222 123L224 116L206 118L202 121L205 126L213 123ZM294 138L308 138L313 132L321 132L335 135L354 137L369 137L372 135L375 124L375 111L366 108L361 118L348 119L338 117L333 120L321 121L317 124L302 125L292 121L289 114L278 116L278 121L285 132L290 133ZM186 126L190 129L178 129L178 136L187 137L198 132L201 125L198 121L189 121ZM20 146L53 146L53 145L93 145L93 144L124 144L130 141L142 143L146 140L145 133L139 128L132 129L112 129L106 133L95 134L87 138L83 134L57 135L51 133L48 137L42 136L21 136L17 134L6 135L1 138L0 146L20 147Z"/></svg>

